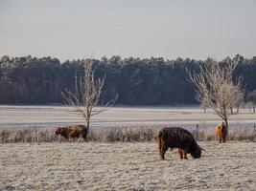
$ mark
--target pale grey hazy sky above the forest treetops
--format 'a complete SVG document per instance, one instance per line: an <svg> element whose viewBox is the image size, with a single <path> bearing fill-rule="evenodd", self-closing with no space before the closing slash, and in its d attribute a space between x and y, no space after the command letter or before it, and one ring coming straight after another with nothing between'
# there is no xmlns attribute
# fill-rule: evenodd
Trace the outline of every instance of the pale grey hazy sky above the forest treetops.
<svg viewBox="0 0 256 191"><path fill-rule="evenodd" d="M256 0L0 0L0 56L256 55Z"/></svg>

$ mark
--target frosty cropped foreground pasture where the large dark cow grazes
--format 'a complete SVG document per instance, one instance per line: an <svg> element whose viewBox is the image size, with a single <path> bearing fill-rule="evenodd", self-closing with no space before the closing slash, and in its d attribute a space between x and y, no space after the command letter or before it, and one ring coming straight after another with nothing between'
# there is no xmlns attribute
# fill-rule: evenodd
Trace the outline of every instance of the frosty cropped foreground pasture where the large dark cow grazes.
<svg viewBox="0 0 256 191"><path fill-rule="evenodd" d="M151 143L0 144L0 190L255 190L255 142L199 142L201 159Z"/></svg>

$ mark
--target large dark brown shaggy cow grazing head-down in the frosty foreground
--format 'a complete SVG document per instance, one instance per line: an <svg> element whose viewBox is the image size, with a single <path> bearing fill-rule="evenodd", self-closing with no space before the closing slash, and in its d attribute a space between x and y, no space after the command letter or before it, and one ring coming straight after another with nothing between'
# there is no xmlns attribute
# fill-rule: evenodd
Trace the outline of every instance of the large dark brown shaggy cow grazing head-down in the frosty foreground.
<svg viewBox="0 0 256 191"><path fill-rule="evenodd" d="M172 150L178 148L180 159L188 159L188 153L194 159L198 159L201 157L201 150L203 150L192 134L180 127L165 127L161 129L158 133L158 146L160 159L165 159L164 155L168 148Z"/></svg>

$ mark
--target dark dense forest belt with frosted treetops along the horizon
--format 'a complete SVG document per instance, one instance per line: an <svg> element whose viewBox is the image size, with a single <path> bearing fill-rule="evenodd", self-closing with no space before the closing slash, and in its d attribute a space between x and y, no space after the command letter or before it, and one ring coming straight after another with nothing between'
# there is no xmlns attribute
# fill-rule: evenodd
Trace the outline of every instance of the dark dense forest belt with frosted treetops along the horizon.
<svg viewBox="0 0 256 191"><path fill-rule="evenodd" d="M228 64L234 60L239 60L234 79L243 77L245 101L255 102L256 56L244 58L237 54L220 63ZM118 105L171 105L197 103L195 86L188 72L197 73L206 60L121 58L114 55L61 63L58 58L50 56L4 55L0 58L0 104L63 103L60 92L64 89L74 91L75 76L81 76L84 63L88 62L92 63L96 78L105 76L101 103L118 95Z"/></svg>

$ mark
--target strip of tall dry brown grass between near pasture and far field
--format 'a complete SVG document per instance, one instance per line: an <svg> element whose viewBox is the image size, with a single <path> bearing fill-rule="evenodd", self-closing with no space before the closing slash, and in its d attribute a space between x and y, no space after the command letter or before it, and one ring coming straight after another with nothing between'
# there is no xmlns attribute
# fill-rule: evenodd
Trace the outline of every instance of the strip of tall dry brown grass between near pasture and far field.
<svg viewBox="0 0 256 191"><path fill-rule="evenodd" d="M89 141L99 142L142 142L153 141L156 138L159 128L156 127L134 127L134 128L103 128L92 129L89 132ZM192 130L192 134L198 140L215 140L213 129ZM55 142L59 141L55 135L55 130L45 129L23 129L23 130L3 130L0 132L2 143L7 142ZM61 138L60 140L64 140ZM228 140L256 140L256 131L253 128L233 128L229 131ZM77 140L74 140L77 141Z"/></svg>

